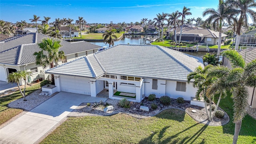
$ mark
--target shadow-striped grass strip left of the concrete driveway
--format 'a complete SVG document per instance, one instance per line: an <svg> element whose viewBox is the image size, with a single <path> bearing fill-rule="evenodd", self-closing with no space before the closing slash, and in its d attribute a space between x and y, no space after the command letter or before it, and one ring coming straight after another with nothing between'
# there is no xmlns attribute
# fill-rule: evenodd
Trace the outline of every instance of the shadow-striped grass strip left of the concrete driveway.
<svg viewBox="0 0 256 144"><path fill-rule="evenodd" d="M40 84L35 84L33 86L26 88L26 95L38 90L40 88ZM22 89L23 91L23 89ZM4 122L10 120L12 117L16 116L23 110L16 109L16 108L8 108L7 104L10 102L22 98L20 91L16 91L12 94L0 98L0 125Z"/></svg>

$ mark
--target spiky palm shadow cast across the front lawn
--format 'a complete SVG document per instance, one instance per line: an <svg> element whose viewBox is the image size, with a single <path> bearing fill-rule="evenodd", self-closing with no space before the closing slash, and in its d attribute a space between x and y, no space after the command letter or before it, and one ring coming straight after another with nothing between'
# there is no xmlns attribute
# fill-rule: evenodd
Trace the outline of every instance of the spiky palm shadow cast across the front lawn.
<svg viewBox="0 0 256 144"><path fill-rule="evenodd" d="M200 136L200 134L202 134L204 132L204 130L207 128L208 125L204 125L202 126L202 128L200 128L200 130L198 130L197 132L195 132L195 134L193 136L186 136L184 138L178 138L179 135L185 135L186 131L189 130L190 128L198 125L194 124L192 126L190 126L189 128L186 128L185 130L178 132L177 134L170 136L168 138L164 138L163 137L166 135L166 130L168 130L168 128L170 128L170 126L166 126L164 127L160 132L152 132L152 134L150 134L150 136L148 136L147 138L144 138L142 140L140 140L139 144L167 144L167 143L172 143L172 144L193 144L195 142L195 140ZM200 142L200 144L204 144L204 139L202 139L202 141Z"/></svg>

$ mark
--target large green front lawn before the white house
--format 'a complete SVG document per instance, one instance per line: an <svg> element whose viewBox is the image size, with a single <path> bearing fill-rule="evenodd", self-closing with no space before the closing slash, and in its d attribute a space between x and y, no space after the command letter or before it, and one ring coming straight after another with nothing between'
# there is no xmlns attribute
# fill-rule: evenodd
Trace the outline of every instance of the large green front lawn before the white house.
<svg viewBox="0 0 256 144"><path fill-rule="evenodd" d="M232 119L232 99L220 102ZM256 120L246 116L238 137L238 144L256 142ZM113 116L85 116L68 118L41 144L230 144L234 124L207 126L199 124L181 110L169 109L145 119L126 114Z"/></svg>

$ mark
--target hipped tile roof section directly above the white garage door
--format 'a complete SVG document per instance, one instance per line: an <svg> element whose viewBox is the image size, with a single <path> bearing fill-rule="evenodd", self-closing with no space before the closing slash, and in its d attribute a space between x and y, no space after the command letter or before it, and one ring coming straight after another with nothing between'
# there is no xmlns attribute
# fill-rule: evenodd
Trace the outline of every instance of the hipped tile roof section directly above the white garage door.
<svg viewBox="0 0 256 144"><path fill-rule="evenodd" d="M50 74L83 76L89 78L97 78L104 74L104 71L94 58L93 54L56 66L46 70L45 72Z"/></svg>

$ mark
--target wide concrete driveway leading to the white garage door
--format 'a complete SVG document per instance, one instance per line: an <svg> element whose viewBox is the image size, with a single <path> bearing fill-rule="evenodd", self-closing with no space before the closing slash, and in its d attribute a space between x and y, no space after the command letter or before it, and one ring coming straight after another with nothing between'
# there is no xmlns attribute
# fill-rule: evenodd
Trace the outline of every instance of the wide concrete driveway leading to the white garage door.
<svg viewBox="0 0 256 144"><path fill-rule="evenodd" d="M83 94L60 92L0 130L0 144L33 144L82 102L100 102Z"/></svg>

